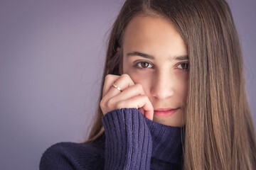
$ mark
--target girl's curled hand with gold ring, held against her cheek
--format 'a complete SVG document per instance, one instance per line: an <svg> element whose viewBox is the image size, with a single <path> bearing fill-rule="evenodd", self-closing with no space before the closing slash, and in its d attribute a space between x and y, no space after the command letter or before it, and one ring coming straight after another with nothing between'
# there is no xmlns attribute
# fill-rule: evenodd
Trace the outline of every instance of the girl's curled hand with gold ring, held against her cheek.
<svg viewBox="0 0 256 170"><path fill-rule="evenodd" d="M114 88L113 83L122 89L122 92ZM119 108L137 108L149 120L153 120L154 115L154 108L142 85L134 84L128 74L122 74L121 76L107 74L100 108L104 115Z"/></svg>

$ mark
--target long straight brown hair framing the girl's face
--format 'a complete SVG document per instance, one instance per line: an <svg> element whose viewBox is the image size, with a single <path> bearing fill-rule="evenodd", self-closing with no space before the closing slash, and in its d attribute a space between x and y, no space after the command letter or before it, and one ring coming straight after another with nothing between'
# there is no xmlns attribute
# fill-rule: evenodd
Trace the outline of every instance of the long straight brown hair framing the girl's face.
<svg viewBox="0 0 256 170"><path fill-rule="evenodd" d="M119 75L122 50L117 52L117 47L122 46L129 21L141 13L169 19L188 47L183 169L256 169L242 52L228 4L224 0L125 1L110 34L102 87L107 74ZM99 104L87 142L102 134Z"/></svg>

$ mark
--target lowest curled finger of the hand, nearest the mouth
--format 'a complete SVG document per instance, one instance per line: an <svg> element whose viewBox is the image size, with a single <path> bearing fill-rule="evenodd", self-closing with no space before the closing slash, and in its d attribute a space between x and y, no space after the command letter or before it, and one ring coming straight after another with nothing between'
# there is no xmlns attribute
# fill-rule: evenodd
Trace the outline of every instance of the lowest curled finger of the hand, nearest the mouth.
<svg viewBox="0 0 256 170"><path fill-rule="evenodd" d="M153 120L154 108L146 95L134 96L125 101L119 101L116 108L143 108L144 116Z"/></svg>

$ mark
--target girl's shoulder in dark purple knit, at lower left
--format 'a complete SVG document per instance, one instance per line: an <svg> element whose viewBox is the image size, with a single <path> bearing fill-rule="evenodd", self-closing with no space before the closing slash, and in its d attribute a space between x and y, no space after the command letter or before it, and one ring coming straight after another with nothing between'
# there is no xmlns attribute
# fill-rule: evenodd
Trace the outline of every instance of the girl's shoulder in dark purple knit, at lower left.
<svg viewBox="0 0 256 170"><path fill-rule="evenodd" d="M104 157L102 143L60 142L43 153L40 169L102 169Z"/></svg>

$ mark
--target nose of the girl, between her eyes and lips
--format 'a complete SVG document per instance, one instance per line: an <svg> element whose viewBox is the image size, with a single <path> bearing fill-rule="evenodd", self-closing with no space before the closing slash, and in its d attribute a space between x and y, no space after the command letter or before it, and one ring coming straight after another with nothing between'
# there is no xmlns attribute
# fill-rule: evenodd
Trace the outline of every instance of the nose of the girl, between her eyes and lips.
<svg viewBox="0 0 256 170"><path fill-rule="evenodd" d="M171 74L158 73L152 79L151 95L158 100L174 96L174 79Z"/></svg>

